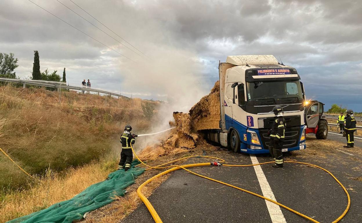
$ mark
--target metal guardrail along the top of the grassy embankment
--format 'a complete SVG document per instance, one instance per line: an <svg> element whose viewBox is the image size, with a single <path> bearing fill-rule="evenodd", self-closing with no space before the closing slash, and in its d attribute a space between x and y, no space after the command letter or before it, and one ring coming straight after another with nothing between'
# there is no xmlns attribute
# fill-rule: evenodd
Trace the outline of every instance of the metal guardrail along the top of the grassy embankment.
<svg viewBox="0 0 362 223"><path fill-rule="evenodd" d="M96 88L86 88L86 87L78 87L78 86L71 86L71 85L67 85L65 82L56 82L56 81L41 81L41 80L22 80L22 79L10 79L10 78L0 78L1 82L9 82L9 83L19 83L19 84L23 84L23 88L25 88L26 85L35 85L35 86L43 86L43 87L54 87L56 89L58 89L59 92L59 97L60 97L60 90L63 89L69 89L69 90L77 90L77 91L91 91L91 92L97 92L98 95L101 94L105 94L112 96L116 96L118 98L122 97L122 98L128 98L126 96L123 96L121 94L117 94L117 93L113 93L110 91L105 91L105 90L101 90L101 89L96 89Z"/></svg>

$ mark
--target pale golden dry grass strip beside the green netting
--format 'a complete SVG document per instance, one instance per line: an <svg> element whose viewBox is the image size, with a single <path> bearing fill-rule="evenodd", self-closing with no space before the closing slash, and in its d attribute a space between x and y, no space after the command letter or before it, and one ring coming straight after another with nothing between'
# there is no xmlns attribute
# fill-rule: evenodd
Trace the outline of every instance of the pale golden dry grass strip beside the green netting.
<svg viewBox="0 0 362 223"><path fill-rule="evenodd" d="M0 203L0 222L71 199L88 186L106 179L115 170L116 162L108 157L102 159L102 162L90 163L78 169L70 168L62 174L48 170L30 189L12 191L3 197Z"/></svg>

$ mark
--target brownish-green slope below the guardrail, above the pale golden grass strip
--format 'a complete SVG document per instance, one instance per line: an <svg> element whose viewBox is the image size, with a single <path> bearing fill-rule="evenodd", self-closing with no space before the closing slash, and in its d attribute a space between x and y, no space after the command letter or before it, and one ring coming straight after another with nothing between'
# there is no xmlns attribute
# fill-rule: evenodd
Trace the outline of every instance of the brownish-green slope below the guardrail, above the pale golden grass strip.
<svg viewBox="0 0 362 223"><path fill-rule="evenodd" d="M0 116L12 121L1 132L0 147L31 174L43 174L49 165L54 171L77 167L112 149L125 124L149 128L141 104L141 99L75 91L62 91L59 103L57 92L1 86ZM28 177L0 155L0 190L28 183Z"/></svg>

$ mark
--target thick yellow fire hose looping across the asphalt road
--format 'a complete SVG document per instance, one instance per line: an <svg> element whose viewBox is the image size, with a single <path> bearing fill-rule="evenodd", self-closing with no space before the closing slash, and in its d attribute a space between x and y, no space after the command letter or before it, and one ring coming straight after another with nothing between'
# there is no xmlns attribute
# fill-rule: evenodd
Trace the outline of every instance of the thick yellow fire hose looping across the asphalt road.
<svg viewBox="0 0 362 223"><path fill-rule="evenodd" d="M308 219L308 220L310 220L310 221L312 221L312 222L315 222L315 223L319 223L317 220L314 220L314 219L312 219L312 218L310 218L310 217L308 217L308 216L306 216L306 215L304 215L304 214L302 214L302 213L299 213L298 211L295 211L295 210L291 209L290 207L287 207L287 206L285 206L285 205L283 205L283 204L281 204L281 203L279 203L279 202L277 202L277 201L271 200L270 198L267 198L267 197L261 196L260 194L253 193L253 192L251 192L251 191L249 191L249 190L245 190L245 189L243 189L243 188L239 188L239 187L237 187L237 186L234 186L234 185L225 183L225 182L223 182L223 181L215 180L215 179L212 179L212 178L210 178L210 177L200 175L200 174L198 174L198 173L195 173L195 172L192 172L192 171L186 169L186 168L189 168L189 167L212 166L212 162L211 162L211 163L187 164L187 165L182 165L182 166L171 165L171 166L162 167L162 166L164 166L164 165L167 165L167 164L176 162L176 161L178 161L178 160L187 159L187 158L191 158L191 157L204 157L204 158L219 159L219 160L221 160L221 162L219 162L219 163L225 162L225 160L223 160L223 159L216 158L216 157L212 157L212 156L188 156L188 157L184 157L184 158L181 158L181 159L173 160L173 161L168 162L168 163L161 164L161 165L156 166L156 167L152 167L152 166L149 166L149 165L145 164L144 162L142 162L142 160L140 160L140 159L138 158L138 156L136 155L135 151L133 150L132 145L131 145L131 149L132 149L132 152L135 154L136 158L137 158L143 165L149 167L149 168L146 169L146 170L153 169L153 168L155 168L155 169L161 169L161 168L172 167L171 169L168 169L168 170L166 170L166 171L163 171L163 172L161 172L161 173L159 173L159 174L151 177L150 179L146 180L146 181L145 181L143 184L141 184L141 185L138 187L138 189L137 189L137 195L138 195L138 197L139 197L139 198L142 200L142 202L146 205L148 211L150 211L150 214L152 215L152 218L153 218L153 220L155 220L156 223L162 223L162 220L161 220L160 216L157 214L157 212L156 212L156 210L154 209L154 207L152 206L151 202L148 201L148 199L142 194L141 190L142 190L142 188L143 188L144 186L146 186L148 183L150 183L152 180L156 179L157 177L166 175L167 173L170 173L170 172L173 172L173 171L176 171L176 170L180 170L180 169L186 170L186 171L188 171L188 172L190 172L190 173L192 173L192 174L194 174L194 175L196 175L196 176L202 177L202 178L204 178L204 179L211 180L211 181L214 181L214 182L216 182L216 183L220 183L220 184L223 184L223 185L226 185L226 186L230 186L230 187L232 187L232 188L235 188L235 189L238 189L238 190L242 190L242 191L247 192L247 193L249 193L249 194L252 194L252 195L254 195L254 196L263 198L263 199L265 199L265 200L267 200L267 201L270 201L270 202L273 202L273 203L275 203L275 204L277 204L277 205L279 205L279 206L281 206L281 207L283 207L283 208L285 208L285 209L287 209L287 210L289 210L289 211L291 211L291 212L293 212L293 213L295 213L295 214L298 214L299 216L302 216L303 218L306 218L306 219ZM336 220L334 220L332 223L337 223L337 222L339 222L339 221L346 215L347 211L349 210L350 203L351 203L351 201L350 201L350 196L349 196L348 191L346 190L346 188L342 185L342 183L341 183L331 172L329 172L328 170L326 170L326 169L324 169L324 168L322 168L322 167L319 167L319 166L317 166L317 165L310 164L310 163L295 162L295 161L285 161L285 162L287 162L287 163L300 163L300 164L305 164L305 165L308 165L308 166L317 167L317 168L319 168L319 169L321 169L321 170L324 170L324 171L326 171L327 173L329 173L329 175L331 175L331 176L334 178L334 180L336 180L337 183L343 188L343 190L344 190L344 192L346 193L347 198L348 198L348 205L347 205L345 211L344 211ZM247 164L247 165L220 164L220 166L248 167L248 166L257 166L257 165L268 164L268 163L274 163L274 162L265 162L265 163Z"/></svg>

